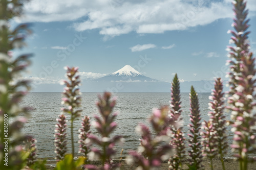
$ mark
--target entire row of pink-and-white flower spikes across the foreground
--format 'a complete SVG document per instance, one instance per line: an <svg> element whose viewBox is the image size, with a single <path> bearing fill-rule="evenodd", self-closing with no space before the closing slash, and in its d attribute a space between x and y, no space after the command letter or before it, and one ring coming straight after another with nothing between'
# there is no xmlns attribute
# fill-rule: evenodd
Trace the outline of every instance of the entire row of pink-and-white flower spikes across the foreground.
<svg viewBox="0 0 256 170"><path fill-rule="evenodd" d="M10 30L9 21L11 18L22 13L22 1L1 1L0 2L0 169L46 169L45 162L36 160L36 140L29 135L23 135L20 129L27 121L24 117L16 118L20 114L28 115L30 108L20 107L19 102L30 89L29 82L24 79L17 79L22 71L30 64L31 55L21 55L12 59L11 51L15 48L22 48L25 37L31 33L27 25L19 25L13 31ZM212 159L220 156L222 167L225 170L224 154L228 144L226 142L226 123L232 125L234 132L231 148L236 152L239 160L240 170L246 170L248 163L255 161L249 154L256 151L256 115L253 109L256 106L254 89L255 63L253 54L249 51L248 10L244 0L233 1L233 11L236 15L232 26L235 31L228 31L232 34L230 43L235 46L228 46L230 64L228 73L230 91L228 93L229 106L232 121L227 122L224 111L224 92L221 78L216 79L215 89L209 96L209 120L201 124L198 94L194 87L191 87L190 98L190 128L188 157L189 169L203 169L202 159L206 156L210 159L210 167L214 169ZM62 113L58 115L55 129L55 147L57 165L55 169L115 169L120 164L113 163L115 156L115 144L123 141L121 136L111 137L117 128L114 119L117 113L112 114L116 99L111 99L111 93L105 92L99 96L97 107L100 116L95 116L93 126L101 137L96 137L90 131L90 118L84 116L79 129L79 153L84 157L74 161L74 120L80 117L81 92L78 88L80 80L78 67L66 67L67 81L63 91ZM67 117L71 119L71 145L72 154L67 155ZM138 151L130 151L126 159L127 163L134 163L137 169L159 169L161 161L169 158L169 169L183 169L182 160L185 158L185 138L182 132L180 84L177 74L175 75L171 89L170 109L163 106L154 109L150 117L150 124L154 132L144 124L136 127L141 135ZM13 123L9 118L13 118ZM202 129L200 131L200 129ZM24 141L24 144L22 142ZM92 148L97 144L100 149ZM203 154L202 154L203 153ZM8 160L5 159L8 155ZM101 167L89 164L88 159L98 158L102 161ZM84 165L86 164L86 165Z"/></svg>

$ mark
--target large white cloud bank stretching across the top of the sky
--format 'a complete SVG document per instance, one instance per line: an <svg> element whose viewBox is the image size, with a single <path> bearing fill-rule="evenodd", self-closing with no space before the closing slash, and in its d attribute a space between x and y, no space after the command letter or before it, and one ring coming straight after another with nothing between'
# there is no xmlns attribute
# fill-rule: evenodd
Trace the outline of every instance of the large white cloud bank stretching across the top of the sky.
<svg viewBox="0 0 256 170"><path fill-rule="evenodd" d="M247 0L250 13L255 0ZM201 3L200 3L201 2ZM105 36L163 33L204 26L221 18L232 18L231 0L33 0L25 4L23 21L73 21L77 31L98 29ZM77 21L86 18L84 21ZM18 21L18 20L17 20Z"/></svg>

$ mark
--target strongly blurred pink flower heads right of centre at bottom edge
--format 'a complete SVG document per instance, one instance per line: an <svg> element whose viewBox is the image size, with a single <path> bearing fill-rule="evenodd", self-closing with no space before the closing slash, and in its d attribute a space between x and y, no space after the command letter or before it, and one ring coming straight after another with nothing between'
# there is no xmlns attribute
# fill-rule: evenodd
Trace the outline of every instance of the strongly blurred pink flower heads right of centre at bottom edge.
<svg viewBox="0 0 256 170"><path fill-rule="evenodd" d="M141 135L138 152L130 151L126 162L135 163L138 169L160 169L161 160L166 160L172 153L172 146L169 145L170 127L179 125L174 119L168 116L168 107L154 109L150 118L151 125L155 131L155 137L149 128L143 124L136 127L136 131Z"/></svg>

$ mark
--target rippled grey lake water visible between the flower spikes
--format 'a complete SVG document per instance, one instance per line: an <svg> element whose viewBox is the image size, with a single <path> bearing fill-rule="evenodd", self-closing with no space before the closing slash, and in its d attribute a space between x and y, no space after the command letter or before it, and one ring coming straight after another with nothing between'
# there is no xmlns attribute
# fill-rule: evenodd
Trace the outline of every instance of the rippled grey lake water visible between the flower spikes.
<svg viewBox="0 0 256 170"><path fill-rule="evenodd" d="M90 116L91 121L94 119L93 115L99 114L95 102L98 100L99 93L82 93L82 116ZM182 117L184 120L183 132L185 137L188 133L189 124L189 93L181 93L182 101ZM152 109L160 107L161 105L169 105L170 93L116 93L117 104L114 111L119 114L116 118L118 128L114 135L120 134L125 138L125 143L122 146L117 145L117 154L119 155L121 149L124 149L123 155L127 155L129 150L137 150L140 136L136 134L135 127L138 123L148 125L148 117L152 113ZM199 103L202 115L202 120L208 120L208 96L210 93L199 93ZM28 123L23 128L23 133L31 134L37 139L38 157L53 159L55 157L54 147L54 129L56 118L60 113L62 105L61 93L29 93L24 101L23 106L32 106L35 110L31 112ZM225 113L227 119L230 119L230 114ZM69 119L69 116L68 116ZM69 126L68 122L68 126ZM78 140L78 129L80 128L81 120L75 120L74 123L74 137ZM69 130L69 129L68 129ZM96 130L91 127L93 134ZM97 134L96 134L97 135ZM232 141L233 134L228 128L227 132L228 142ZM71 152L70 132L68 131L68 148ZM75 145L75 152L78 152L78 144ZM226 157L233 157L233 154L228 151Z"/></svg>

